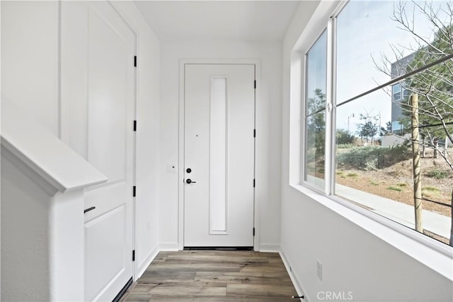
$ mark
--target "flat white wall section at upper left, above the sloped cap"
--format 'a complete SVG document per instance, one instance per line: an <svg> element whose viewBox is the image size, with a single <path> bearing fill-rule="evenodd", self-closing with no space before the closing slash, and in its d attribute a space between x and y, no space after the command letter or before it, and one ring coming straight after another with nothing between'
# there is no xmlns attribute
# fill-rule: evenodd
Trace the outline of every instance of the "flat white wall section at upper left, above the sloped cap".
<svg viewBox="0 0 453 302"><path fill-rule="evenodd" d="M58 2L1 1L1 102L58 134Z"/></svg>

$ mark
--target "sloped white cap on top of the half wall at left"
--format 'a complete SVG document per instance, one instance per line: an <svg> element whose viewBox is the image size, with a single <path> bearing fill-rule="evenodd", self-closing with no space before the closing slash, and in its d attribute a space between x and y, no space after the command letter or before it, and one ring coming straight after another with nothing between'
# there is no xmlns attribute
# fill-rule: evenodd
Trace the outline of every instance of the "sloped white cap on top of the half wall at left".
<svg viewBox="0 0 453 302"><path fill-rule="evenodd" d="M94 186L107 177L57 136L11 106L1 106L1 153L19 169L30 169L55 195Z"/></svg>

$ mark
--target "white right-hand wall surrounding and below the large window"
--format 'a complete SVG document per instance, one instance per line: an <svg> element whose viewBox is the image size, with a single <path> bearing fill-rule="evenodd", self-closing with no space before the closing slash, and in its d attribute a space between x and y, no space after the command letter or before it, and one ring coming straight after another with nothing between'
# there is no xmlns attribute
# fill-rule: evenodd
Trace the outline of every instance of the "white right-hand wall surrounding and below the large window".
<svg viewBox="0 0 453 302"><path fill-rule="evenodd" d="M291 50L318 5L315 1L299 5L282 48L282 255L292 267L296 285L309 301L323 299L323 291L345 293L346 298L350 291L353 301L452 301L451 277L445 277L451 276L453 270L449 256L321 194L289 186L294 175L289 167L298 162L289 145L297 147L293 140L299 140L296 129L299 120L289 121L289 116L294 117L290 107L299 107L289 97ZM311 21L311 24L316 22L314 18ZM350 213L340 215L340 212ZM365 229L365 224L372 227ZM394 242L379 238L378 231L393 237ZM408 250L423 250L419 255L428 253L425 258L435 259L439 267L444 266L444 270L439 270L442 274L421 263L415 253L408 255L403 246L408 246ZM322 281L316 277L317 260L323 265Z"/></svg>

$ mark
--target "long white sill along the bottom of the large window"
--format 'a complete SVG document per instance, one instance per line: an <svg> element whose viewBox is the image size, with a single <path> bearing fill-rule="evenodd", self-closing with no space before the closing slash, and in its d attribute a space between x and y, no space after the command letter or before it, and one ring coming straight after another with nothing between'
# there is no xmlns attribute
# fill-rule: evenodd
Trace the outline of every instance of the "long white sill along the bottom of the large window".
<svg viewBox="0 0 453 302"><path fill-rule="evenodd" d="M301 184L292 183L290 186L453 281L452 247L336 196L328 196Z"/></svg>

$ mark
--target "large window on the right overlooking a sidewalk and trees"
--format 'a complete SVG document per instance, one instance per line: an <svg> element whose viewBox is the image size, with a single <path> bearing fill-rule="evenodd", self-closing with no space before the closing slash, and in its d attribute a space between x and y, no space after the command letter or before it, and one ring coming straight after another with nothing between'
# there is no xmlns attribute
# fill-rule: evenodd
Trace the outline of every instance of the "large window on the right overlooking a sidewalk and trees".
<svg viewBox="0 0 453 302"><path fill-rule="evenodd" d="M350 1L306 52L304 68L302 183L447 244L452 20L442 1ZM336 63L330 70L327 58Z"/></svg>

